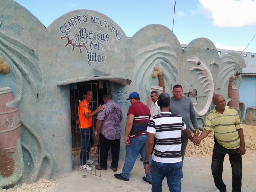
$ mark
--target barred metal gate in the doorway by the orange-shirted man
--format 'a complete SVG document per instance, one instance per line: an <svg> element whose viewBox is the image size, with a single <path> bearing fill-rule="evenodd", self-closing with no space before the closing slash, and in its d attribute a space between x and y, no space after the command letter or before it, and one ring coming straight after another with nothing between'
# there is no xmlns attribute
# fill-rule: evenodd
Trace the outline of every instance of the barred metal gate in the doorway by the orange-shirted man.
<svg viewBox="0 0 256 192"><path fill-rule="evenodd" d="M79 120L78 117L78 106L81 101L84 99L84 95L87 91L92 91L92 101L90 102L91 113L97 109L99 106L98 103L98 84L97 83L76 83L70 85L70 107L71 107L71 131L72 131L72 159L73 159L73 169L80 169L85 171L86 173L90 173L96 176L101 176L100 170L95 169L95 163L97 164L98 161L98 140L94 140L94 130L96 125L96 117L97 115L93 116L92 118L92 129L93 133L89 134L89 140L86 139L86 134L81 133L79 128ZM83 131L83 130L82 130ZM85 142L89 142L90 150L82 150L82 137L85 137ZM87 145L85 145L87 146ZM90 152L88 152L90 151ZM87 163L88 166L92 168L92 170L85 170L80 167L80 154L85 153L89 155L89 162ZM86 156L85 155L85 156ZM81 155L83 160L83 155ZM83 174L85 175L85 174Z"/></svg>

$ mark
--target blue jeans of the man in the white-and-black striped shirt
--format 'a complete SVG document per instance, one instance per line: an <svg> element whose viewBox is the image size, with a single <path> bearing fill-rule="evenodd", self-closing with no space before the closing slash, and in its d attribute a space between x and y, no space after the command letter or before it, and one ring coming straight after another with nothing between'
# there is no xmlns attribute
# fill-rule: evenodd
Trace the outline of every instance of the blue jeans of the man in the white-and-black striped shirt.
<svg viewBox="0 0 256 192"><path fill-rule="evenodd" d="M177 163L159 163L154 160L151 162L151 192L162 192L164 177L171 192L181 192L182 161Z"/></svg>

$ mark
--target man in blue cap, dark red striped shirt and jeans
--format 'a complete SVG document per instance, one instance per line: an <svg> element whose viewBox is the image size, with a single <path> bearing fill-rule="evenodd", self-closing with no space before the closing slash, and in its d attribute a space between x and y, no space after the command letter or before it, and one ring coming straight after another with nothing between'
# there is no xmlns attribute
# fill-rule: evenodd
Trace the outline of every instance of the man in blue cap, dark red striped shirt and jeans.
<svg viewBox="0 0 256 192"><path fill-rule="evenodd" d="M128 109L128 118L125 126L125 162L122 173L114 175L117 179L124 181L129 180L139 153L143 161L145 160L145 145L148 137L147 124L151 116L149 108L140 101L140 96L137 92L130 93L127 100L130 100L131 106ZM150 162L151 155L148 163ZM146 173L146 176L142 177L142 179L151 184L151 173Z"/></svg>

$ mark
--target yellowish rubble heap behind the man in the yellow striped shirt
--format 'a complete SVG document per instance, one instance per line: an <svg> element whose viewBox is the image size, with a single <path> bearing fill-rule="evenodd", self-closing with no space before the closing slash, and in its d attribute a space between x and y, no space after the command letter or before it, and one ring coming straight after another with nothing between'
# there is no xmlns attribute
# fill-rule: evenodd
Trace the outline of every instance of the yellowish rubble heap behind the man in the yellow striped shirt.
<svg viewBox="0 0 256 192"><path fill-rule="evenodd" d="M243 134L245 136L246 150L256 151L256 126L241 124L243 127ZM195 146L192 142L188 142L186 149L186 157L196 157L212 155L214 146L213 131L201 141L200 146Z"/></svg>

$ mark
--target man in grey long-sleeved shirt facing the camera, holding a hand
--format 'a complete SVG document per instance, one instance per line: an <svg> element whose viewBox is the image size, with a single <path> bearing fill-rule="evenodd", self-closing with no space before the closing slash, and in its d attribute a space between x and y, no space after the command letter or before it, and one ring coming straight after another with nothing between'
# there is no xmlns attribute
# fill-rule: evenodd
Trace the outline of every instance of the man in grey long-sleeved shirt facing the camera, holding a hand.
<svg viewBox="0 0 256 192"><path fill-rule="evenodd" d="M173 97L171 97L170 112L180 115L184 119L185 124L187 125L187 128L189 128L189 119L190 119L195 129L194 137L198 137L199 128L198 128L198 123L197 123L192 101L190 100L190 98L183 96L183 90L181 85L178 85L178 84L174 85L172 93L173 93ZM187 143L188 143L188 139L184 137L182 134L181 136L182 161L185 156Z"/></svg>

